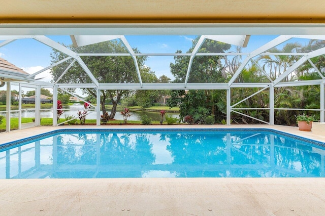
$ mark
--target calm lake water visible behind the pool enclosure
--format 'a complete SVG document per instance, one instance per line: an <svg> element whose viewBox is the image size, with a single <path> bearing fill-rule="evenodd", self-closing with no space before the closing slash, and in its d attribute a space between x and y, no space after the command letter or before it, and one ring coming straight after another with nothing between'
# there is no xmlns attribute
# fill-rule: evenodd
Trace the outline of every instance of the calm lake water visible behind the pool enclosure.
<svg viewBox="0 0 325 216"><path fill-rule="evenodd" d="M64 106L63 109L69 109L69 110L64 110L64 113L61 115L61 118L70 115L77 117L78 111L84 110L84 106L80 104L75 104L71 106ZM106 111L109 114L111 113L110 109L107 109ZM6 115L6 114L0 113L0 115ZM148 117L152 118L153 121L160 121L161 119L161 116L158 112L133 111L131 112L131 116L128 120L141 120L141 116L143 115L147 115ZM179 113L168 113L168 115L172 115L173 117L177 117L177 118L179 117ZM23 110L21 112L21 116L24 118L35 118L35 110ZM18 112L12 112L11 117L18 118ZM52 118L52 117L53 117L53 109L41 110L41 118ZM86 119L96 119L96 112L89 113ZM123 120L120 111L116 112L114 119Z"/></svg>

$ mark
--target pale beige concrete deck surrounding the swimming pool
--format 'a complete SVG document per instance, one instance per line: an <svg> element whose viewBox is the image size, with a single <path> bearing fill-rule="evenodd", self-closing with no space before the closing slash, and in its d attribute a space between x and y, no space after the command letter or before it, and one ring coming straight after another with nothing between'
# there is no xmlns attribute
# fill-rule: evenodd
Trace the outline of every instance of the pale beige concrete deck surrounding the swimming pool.
<svg viewBox="0 0 325 216"><path fill-rule="evenodd" d="M1 133L0 143L72 126L41 126ZM145 125L73 126L148 128ZM157 125L185 128L193 125ZM325 142L325 136L298 127L199 125L195 127L273 128ZM16 179L0 180L3 215L323 215L324 178L188 179Z"/></svg>

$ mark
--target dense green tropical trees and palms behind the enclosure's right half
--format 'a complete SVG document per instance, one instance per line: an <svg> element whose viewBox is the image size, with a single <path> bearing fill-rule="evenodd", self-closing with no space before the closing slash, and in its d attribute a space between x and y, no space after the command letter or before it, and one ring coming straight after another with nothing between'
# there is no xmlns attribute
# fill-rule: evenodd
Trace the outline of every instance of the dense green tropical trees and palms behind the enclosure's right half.
<svg viewBox="0 0 325 216"><path fill-rule="evenodd" d="M197 40L193 41L192 48ZM218 52L223 53L230 47L220 43L213 44L208 41L200 52L211 51L218 47ZM322 40L310 40L303 46L299 42L288 42L281 46L268 50L269 53L305 53L325 47ZM188 51L191 52L192 48ZM205 50L204 50L205 49ZM181 53L181 51L177 51ZM231 51L232 52L232 51ZM267 53L266 52L266 53ZM236 48L235 53L241 53L241 48ZM198 61L200 58L205 61ZM196 59L198 58L198 59ZM241 66L241 55L238 56L197 56L194 58L188 82L215 82L223 83L229 80ZM218 58L218 59L216 59ZM289 67L293 66L301 56L299 55L262 55L252 59L234 80L235 83L271 83L281 76ZM175 57L175 63L171 64L171 72L175 76L175 82L184 82L189 58L186 56ZM209 65L207 65L210 63ZM222 65L223 64L223 65ZM214 69L211 72L211 69ZM315 80L325 76L325 56L321 55L306 61L302 66L285 76L281 82L296 80ZM302 85L297 87L275 87L274 106L275 123L282 125L296 125L296 117L303 112L315 115L317 111L297 111L300 109L320 108L320 86ZM168 105L180 107L180 117L187 122L189 116L193 123L206 123L205 116L215 116L215 121L225 123L226 98L222 90L189 90L172 91ZM234 111L231 114L233 123L256 124L269 122L270 116L270 89L269 88L232 88L231 105ZM186 116L186 120L185 120ZM250 116L250 117L249 117ZM211 118L211 117L208 117Z"/></svg>

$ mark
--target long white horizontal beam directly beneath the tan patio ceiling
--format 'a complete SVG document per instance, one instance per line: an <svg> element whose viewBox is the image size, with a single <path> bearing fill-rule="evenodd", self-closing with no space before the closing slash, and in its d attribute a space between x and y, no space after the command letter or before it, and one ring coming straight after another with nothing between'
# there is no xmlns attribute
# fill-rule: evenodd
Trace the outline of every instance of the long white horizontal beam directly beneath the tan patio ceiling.
<svg viewBox="0 0 325 216"><path fill-rule="evenodd" d="M325 35L323 23L7 23L0 29L2 35Z"/></svg>

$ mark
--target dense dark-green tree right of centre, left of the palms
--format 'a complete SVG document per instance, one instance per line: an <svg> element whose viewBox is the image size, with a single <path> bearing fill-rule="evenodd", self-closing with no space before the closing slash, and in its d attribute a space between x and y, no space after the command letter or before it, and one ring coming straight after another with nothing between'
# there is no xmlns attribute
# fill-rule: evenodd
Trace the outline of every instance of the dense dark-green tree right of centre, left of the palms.
<svg viewBox="0 0 325 216"><path fill-rule="evenodd" d="M188 53L192 52L200 37L193 40L192 47ZM229 50L231 45L222 42L206 39L199 53L224 53ZM182 53L182 51L177 51ZM190 69L188 82L199 83L220 83L225 81L222 76L222 65L220 61L222 56L196 56L193 59ZM170 64L171 73L174 75L174 82L184 82L187 67L189 63L188 56L175 56L175 63ZM189 90L186 94L185 91L171 91L171 98L168 100L168 105L171 107L180 105L180 117L185 115L201 116L202 113L206 114L205 109L209 110L208 114L219 116L222 111L219 109L224 108L219 102L223 101L222 95L219 91L211 90ZM199 109L199 107L201 107ZM222 108L222 109L223 109ZM199 112L199 111L202 112Z"/></svg>

